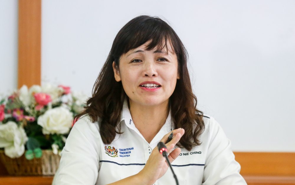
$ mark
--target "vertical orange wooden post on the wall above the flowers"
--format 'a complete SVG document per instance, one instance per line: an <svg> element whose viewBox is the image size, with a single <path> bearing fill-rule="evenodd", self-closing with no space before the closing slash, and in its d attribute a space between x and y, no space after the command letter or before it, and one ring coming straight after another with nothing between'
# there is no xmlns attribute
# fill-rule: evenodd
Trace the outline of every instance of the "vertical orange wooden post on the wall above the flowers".
<svg viewBox="0 0 295 185"><path fill-rule="evenodd" d="M41 0L19 0L18 88L41 82Z"/></svg>

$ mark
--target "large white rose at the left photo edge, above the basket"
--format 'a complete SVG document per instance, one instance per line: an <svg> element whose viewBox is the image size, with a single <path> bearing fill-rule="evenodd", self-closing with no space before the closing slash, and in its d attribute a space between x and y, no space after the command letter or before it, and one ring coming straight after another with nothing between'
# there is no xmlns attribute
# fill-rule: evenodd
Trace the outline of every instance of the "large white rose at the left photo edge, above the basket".
<svg viewBox="0 0 295 185"><path fill-rule="evenodd" d="M22 127L13 121L0 125L0 148L4 148L5 155L16 158L24 154L24 143L28 137Z"/></svg>

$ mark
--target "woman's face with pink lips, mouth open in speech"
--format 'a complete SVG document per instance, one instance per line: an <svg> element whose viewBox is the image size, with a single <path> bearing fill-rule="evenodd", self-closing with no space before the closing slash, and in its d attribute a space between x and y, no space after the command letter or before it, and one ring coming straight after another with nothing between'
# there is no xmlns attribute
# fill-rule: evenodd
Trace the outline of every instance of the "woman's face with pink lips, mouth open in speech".
<svg viewBox="0 0 295 185"><path fill-rule="evenodd" d="M168 44L162 51L145 50L150 41L138 48L129 50L119 60L119 70L114 69L116 81L122 81L123 89L130 105L156 106L168 103L176 80L179 79L178 62Z"/></svg>

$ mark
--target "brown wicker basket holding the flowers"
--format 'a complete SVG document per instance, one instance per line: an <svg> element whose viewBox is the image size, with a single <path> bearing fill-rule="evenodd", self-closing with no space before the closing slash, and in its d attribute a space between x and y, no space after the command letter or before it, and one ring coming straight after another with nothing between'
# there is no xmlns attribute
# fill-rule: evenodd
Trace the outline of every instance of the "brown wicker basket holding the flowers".
<svg viewBox="0 0 295 185"><path fill-rule="evenodd" d="M60 155L53 154L52 150L42 150L39 159L27 160L24 155L19 158L10 158L0 150L0 160L4 164L9 175L54 175L60 161Z"/></svg>

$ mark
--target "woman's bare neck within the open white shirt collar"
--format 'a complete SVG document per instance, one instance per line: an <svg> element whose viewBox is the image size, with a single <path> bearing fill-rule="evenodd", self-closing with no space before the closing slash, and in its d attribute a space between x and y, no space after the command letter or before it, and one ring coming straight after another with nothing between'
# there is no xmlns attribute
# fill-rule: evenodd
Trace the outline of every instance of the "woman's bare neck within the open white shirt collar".
<svg viewBox="0 0 295 185"><path fill-rule="evenodd" d="M166 122L169 114L169 101L155 106L140 105L132 101L129 103L135 127L150 143Z"/></svg>

